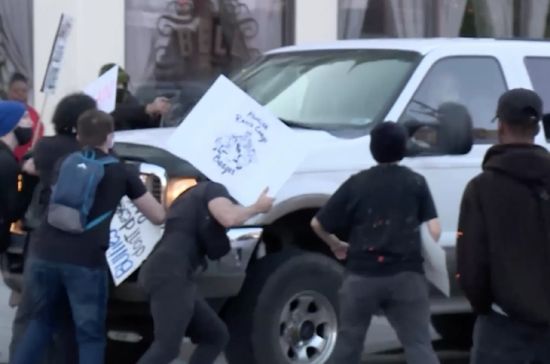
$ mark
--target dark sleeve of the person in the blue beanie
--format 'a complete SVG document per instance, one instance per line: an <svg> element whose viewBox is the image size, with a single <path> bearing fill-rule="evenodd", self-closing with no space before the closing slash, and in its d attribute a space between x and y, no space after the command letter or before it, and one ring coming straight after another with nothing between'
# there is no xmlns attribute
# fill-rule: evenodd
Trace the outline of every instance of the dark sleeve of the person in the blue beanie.
<svg viewBox="0 0 550 364"><path fill-rule="evenodd" d="M17 163L6 156L0 154L0 213L5 222L11 223L19 217L19 192L17 189L17 178L19 176L19 166Z"/></svg>

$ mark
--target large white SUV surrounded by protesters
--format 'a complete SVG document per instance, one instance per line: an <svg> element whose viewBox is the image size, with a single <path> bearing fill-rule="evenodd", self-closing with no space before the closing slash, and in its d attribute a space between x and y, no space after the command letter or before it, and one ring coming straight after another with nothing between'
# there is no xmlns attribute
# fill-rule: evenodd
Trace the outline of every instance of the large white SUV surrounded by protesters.
<svg viewBox="0 0 550 364"><path fill-rule="evenodd" d="M374 165L369 131L384 120L409 129L403 164L427 178L442 221L452 297L434 291L434 325L448 339L468 338L470 308L454 280L460 199L496 141L491 121L498 97L510 88L534 89L550 107L550 43L383 39L294 46L265 54L233 81L316 150L276 196L270 214L229 232L232 253L202 277L204 293L231 330L229 363L320 364L330 356L342 267L309 221L345 179ZM140 163L150 188L167 204L200 178L164 149L172 131L116 135L117 152ZM548 144L545 131L550 129L537 137L541 145ZM130 312L142 300L137 292L130 280L113 291L112 307ZM126 316L113 308L110 322L118 325L111 330L139 331L143 317ZM140 332L150 340L150 332Z"/></svg>

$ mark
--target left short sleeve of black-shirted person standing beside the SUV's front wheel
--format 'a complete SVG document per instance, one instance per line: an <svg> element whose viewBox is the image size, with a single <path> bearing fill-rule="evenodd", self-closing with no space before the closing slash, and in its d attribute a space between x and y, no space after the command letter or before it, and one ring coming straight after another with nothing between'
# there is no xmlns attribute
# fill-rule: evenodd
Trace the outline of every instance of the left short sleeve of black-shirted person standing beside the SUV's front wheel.
<svg viewBox="0 0 550 364"><path fill-rule="evenodd" d="M336 234L341 231L348 231L351 224L349 205L352 196L353 177L348 179L332 197L326 205L317 213L317 220L328 233Z"/></svg>

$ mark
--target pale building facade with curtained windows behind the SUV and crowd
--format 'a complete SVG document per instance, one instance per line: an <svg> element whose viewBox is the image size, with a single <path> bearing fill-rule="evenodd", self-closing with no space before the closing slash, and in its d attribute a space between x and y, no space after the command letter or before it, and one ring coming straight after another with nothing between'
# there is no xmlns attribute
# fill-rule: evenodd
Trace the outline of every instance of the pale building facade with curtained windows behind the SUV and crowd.
<svg viewBox="0 0 550 364"><path fill-rule="evenodd" d="M369 37L550 37L550 0L18 0L0 2L0 84L26 74L47 124L105 63L147 98L204 88L269 49ZM40 92L60 15L74 18L55 95ZM44 107L42 107L44 105Z"/></svg>

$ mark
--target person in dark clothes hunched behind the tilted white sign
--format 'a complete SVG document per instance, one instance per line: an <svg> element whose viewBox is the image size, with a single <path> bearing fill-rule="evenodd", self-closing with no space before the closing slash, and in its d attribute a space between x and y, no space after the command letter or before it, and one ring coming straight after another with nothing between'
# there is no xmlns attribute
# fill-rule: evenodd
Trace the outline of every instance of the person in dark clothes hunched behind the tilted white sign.
<svg viewBox="0 0 550 364"><path fill-rule="evenodd" d="M198 347L189 364L212 364L229 334L224 322L197 290L194 275L230 250L226 228L242 225L271 209L265 190L256 203L237 205L227 189L202 182L180 195L170 207L162 240L143 265L140 283L150 296L155 341L138 364L168 364L176 359L185 334Z"/></svg>

